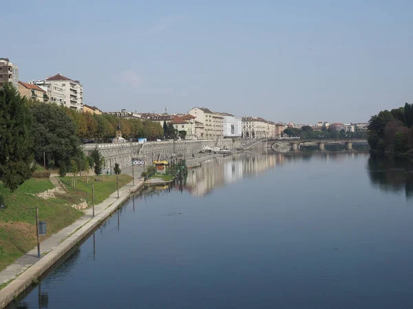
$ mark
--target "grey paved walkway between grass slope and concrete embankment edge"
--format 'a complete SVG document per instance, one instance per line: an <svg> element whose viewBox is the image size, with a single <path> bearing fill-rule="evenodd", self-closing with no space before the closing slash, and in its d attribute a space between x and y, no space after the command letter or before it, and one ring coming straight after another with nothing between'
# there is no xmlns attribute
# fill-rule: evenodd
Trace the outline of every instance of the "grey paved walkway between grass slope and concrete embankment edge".
<svg viewBox="0 0 413 309"><path fill-rule="evenodd" d="M125 174L129 174L127 171L125 171ZM136 179L135 177L135 186L132 185L132 182L128 183L127 185L124 185L119 189L119 196L120 198L124 194L129 194L130 190L134 190L137 187L140 187L143 185L143 181L140 179ZM103 210L107 209L110 205L112 205L114 202L118 201L118 193L115 191L112 193L109 198L107 198L105 201L102 203L95 205L95 216L100 214ZM92 217L92 207L88 209L84 209L83 212L85 213L84 216L76 220L72 225L69 225L68 227L65 227L64 229L61 229L61 231L53 234L50 236L50 238L47 238L40 244L40 250L41 250L41 255L44 256L45 253L49 253L52 251L56 246L61 244L63 240L68 238L69 236L74 233L74 231L78 230L80 227L83 227L89 220L91 220ZM37 246L29 251L28 253L25 253L21 258L17 259L14 261L13 264L8 266L6 269L0 272L0 285L4 284L6 282L11 281L12 279L16 278L18 275L23 273L27 268L32 266L34 263L38 262L40 259L37 258Z"/></svg>

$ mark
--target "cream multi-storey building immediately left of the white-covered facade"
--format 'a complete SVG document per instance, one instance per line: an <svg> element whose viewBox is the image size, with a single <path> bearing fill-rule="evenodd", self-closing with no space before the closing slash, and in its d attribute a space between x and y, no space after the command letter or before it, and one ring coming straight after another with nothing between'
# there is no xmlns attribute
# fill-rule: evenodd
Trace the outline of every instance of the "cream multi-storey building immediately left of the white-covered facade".
<svg viewBox="0 0 413 309"><path fill-rule="evenodd" d="M194 107L188 112L195 117L195 122L204 124L204 139L222 139L224 137L224 117L204 107Z"/></svg>

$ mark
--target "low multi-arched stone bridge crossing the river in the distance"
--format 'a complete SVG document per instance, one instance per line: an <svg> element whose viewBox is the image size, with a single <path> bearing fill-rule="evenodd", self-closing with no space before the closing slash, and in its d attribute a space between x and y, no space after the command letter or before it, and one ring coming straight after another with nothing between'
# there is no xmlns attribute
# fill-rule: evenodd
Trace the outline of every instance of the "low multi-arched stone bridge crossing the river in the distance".
<svg viewBox="0 0 413 309"><path fill-rule="evenodd" d="M338 139L267 139L267 146L273 150L282 147L290 147L291 150L299 150L301 145L317 145L319 150L324 150L326 144L345 144L347 150L352 150L353 144L367 144L363 138L338 138Z"/></svg>

